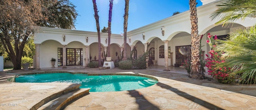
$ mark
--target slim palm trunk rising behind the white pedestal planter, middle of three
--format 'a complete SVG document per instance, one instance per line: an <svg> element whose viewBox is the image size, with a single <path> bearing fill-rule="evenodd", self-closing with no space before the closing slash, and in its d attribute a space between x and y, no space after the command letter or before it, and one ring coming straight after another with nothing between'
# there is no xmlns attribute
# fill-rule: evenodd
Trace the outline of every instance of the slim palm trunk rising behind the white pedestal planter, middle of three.
<svg viewBox="0 0 256 110"><path fill-rule="evenodd" d="M109 0L109 11L108 11L108 57L110 57L110 37L111 37L111 21L112 21L112 9L113 1Z"/></svg>

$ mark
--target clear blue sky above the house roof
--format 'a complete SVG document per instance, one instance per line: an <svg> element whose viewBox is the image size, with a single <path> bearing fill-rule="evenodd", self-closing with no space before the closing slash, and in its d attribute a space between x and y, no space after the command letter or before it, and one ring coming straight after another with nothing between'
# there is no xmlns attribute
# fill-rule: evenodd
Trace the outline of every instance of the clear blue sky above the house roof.
<svg viewBox="0 0 256 110"><path fill-rule="evenodd" d="M70 0L78 12L76 30L96 32L96 22L92 0ZM131 31L172 16L173 12L189 10L189 0L130 0L128 29ZM202 6L200 0L197 6ZM114 34L123 33L124 27L124 0L114 0L112 11L111 31ZM108 27L109 0L96 0L100 22L100 30Z"/></svg>

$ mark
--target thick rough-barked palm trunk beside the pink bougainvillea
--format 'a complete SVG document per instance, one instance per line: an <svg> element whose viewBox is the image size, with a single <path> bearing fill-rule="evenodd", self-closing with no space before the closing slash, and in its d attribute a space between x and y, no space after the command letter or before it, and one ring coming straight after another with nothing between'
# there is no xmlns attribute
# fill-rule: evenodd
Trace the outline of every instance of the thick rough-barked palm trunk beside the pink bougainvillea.
<svg viewBox="0 0 256 110"><path fill-rule="evenodd" d="M196 11L196 0L189 0L190 23L191 23L191 71L189 77L193 79L204 79L204 73L200 68L200 38L198 35L198 18Z"/></svg>

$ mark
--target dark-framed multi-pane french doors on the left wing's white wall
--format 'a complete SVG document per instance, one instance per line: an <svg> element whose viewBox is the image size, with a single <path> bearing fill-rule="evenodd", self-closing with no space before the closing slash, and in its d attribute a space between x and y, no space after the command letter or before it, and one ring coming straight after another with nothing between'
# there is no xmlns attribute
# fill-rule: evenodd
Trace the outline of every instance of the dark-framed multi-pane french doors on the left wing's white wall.
<svg viewBox="0 0 256 110"><path fill-rule="evenodd" d="M83 49L82 48L66 48L67 66L83 65Z"/></svg>

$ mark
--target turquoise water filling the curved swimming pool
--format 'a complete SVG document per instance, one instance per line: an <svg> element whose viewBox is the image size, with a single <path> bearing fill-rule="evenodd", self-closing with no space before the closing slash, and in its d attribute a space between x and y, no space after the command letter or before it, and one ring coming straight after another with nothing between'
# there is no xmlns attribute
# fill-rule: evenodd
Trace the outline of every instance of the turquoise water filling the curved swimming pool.
<svg viewBox="0 0 256 110"><path fill-rule="evenodd" d="M19 83L78 83L80 88L90 88L90 92L128 91L149 87L157 83L147 77L133 75L86 75L70 73L45 73L22 75L17 77Z"/></svg>

